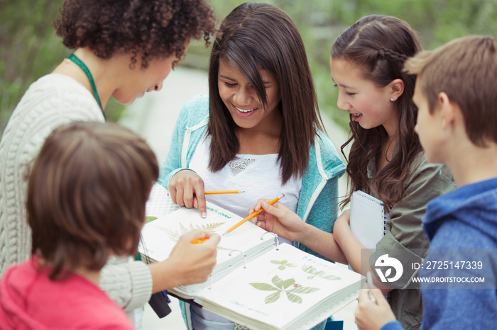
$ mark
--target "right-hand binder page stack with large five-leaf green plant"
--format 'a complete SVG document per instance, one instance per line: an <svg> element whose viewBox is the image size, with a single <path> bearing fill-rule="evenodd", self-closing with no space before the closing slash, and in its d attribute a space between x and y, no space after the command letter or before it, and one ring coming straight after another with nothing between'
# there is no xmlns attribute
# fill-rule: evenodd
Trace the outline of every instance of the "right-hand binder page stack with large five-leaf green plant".
<svg viewBox="0 0 497 330"><path fill-rule="evenodd" d="M357 299L361 277L283 243L198 292L195 302L250 329L310 329Z"/></svg>

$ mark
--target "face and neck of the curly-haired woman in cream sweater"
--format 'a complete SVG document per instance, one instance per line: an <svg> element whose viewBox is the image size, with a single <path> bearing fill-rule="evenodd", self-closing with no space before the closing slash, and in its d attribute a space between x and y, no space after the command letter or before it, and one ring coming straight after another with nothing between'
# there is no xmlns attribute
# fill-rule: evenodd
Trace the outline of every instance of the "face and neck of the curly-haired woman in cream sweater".
<svg viewBox="0 0 497 330"><path fill-rule="evenodd" d="M190 40L185 42L185 51L188 45L190 45ZM112 97L121 104L129 105L136 98L144 96L146 92L160 91L164 79L179 62L180 59L173 54L169 57L151 60L146 69L141 69L139 64L135 64L134 69L129 69L129 76L123 78L125 81L121 87L112 93Z"/></svg>

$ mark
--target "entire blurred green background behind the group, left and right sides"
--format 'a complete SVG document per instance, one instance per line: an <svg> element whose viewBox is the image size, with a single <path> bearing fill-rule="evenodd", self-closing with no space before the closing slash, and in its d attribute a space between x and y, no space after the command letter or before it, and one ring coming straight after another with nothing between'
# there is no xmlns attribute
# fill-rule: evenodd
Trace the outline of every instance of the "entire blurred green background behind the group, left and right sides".
<svg viewBox="0 0 497 330"><path fill-rule="evenodd" d="M104 0L102 0L104 1ZM52 26L63 0L0 0L0 135L28 86L70 55ZM219 23L245 1L211 0ZM329 48L337 35L361 16L397 16L416 30L423 47L432 49L469 34L497 35L497 0L267 0L293 19L305 42L322 112L346 127L337 109L337 91L329 74ZM209 49L192 42L182 65L206 69ZM109 102L109 120L123 106Z"/></svg>

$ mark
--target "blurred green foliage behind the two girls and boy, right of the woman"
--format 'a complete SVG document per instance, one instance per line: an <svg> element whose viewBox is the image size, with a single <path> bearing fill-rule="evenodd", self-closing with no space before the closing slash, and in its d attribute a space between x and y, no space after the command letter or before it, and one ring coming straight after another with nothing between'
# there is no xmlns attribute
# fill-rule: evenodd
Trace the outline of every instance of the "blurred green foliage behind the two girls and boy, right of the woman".
<svg viewBox="0 0 497 330"><path fill-rule="evenodd" d="M244 2L211 0L217 10L219 21ZM334 83L329 72L329 50L333 40L362 16L380 13L403 19L417 31L426 49L433 49L449 40L469 34L497 36L497 0L266 0L263 2L282 8L297 25L309 57L321 111L343 127L348 127L349 115L336 106L338 93L333 87ZM202 47L190 47L186 59L204 52Z"/></svg>

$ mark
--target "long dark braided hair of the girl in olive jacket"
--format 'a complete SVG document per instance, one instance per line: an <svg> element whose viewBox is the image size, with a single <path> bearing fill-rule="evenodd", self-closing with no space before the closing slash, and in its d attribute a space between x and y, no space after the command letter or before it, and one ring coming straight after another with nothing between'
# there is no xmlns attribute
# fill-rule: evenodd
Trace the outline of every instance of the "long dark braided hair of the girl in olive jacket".
<svg viewBox="0 0 497 330"><path fill-rule="evenodd" d="M371 189L388 207L402 200L403 183L413 161L422 151L414 131L417 116L417 108L413 103L415 76L403 72L405 60L420 50L417 35L408 23L383 15L364 16L347 28L332 45L332 59L344 59L358 65L364 78L373 81L379 88L387 86L394 79L401 79L404 83L404 92L395 101L399 113L398 152L371 182ZM349 203L355 190L370 193L368 162L380 157L381 147L388 139L382 125L366 130L352 118L349 125L351 136L342 145L342 154L345 155L346 145L353 142L346 169L350 189L342 201L342 207Z"/></svg>

